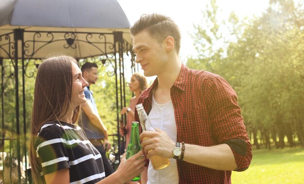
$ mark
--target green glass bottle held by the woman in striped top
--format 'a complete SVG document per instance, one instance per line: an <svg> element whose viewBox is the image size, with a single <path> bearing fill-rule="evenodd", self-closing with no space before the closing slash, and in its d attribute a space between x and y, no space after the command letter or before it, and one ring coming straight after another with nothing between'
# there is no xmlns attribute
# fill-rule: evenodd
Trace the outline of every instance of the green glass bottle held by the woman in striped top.
<svg viewBox="0 0 304 184"><path fill-rule="evenodd" d="M127 159L135 155L141 150L139 142L139 124L138 122L132 122L130 143L127 146ZM140 175L136 176L132 181L140 180Z"/></svg>

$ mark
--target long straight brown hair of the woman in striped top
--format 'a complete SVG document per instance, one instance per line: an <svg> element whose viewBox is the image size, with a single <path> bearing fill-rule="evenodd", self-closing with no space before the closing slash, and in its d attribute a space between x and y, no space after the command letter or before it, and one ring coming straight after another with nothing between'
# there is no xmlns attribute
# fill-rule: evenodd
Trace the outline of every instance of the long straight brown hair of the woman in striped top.
<svg viewBox="0 0 304 184"><path fill-rule="evenodd" d="M72 63L77 61L69 56L56 56L44 60L38 67L34 89L34 105L32 113L32 137L30 146L30 162L33 181L43 183L40 177L41 166L36 157L35 141L41 127L48 122L57 121L66 115L71 100ZM76 123L80 114L80 106L74 109L72 123Z"/></svg>

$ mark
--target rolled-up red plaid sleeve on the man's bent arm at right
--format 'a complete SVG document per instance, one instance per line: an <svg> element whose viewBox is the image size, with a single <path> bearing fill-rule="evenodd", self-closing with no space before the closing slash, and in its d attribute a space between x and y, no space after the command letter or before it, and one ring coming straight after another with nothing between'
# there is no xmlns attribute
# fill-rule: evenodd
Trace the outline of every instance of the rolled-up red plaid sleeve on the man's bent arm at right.
<svg viewBox="0 0 304 184"><path fill-rule="evenodd" d="M252 145L237 104L236 92L222 77L208 80L205 98L212 119L213 136L220 144L228 144L235 156L237 169L248 169Z"/></svg>

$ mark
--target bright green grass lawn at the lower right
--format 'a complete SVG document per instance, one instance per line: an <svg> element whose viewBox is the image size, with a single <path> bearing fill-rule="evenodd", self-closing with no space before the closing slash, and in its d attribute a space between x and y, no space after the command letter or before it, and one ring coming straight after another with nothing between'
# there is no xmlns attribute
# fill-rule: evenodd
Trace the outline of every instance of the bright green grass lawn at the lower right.
<svg viewBox="0 0 304 184"><path fill-rule="evenodd" d="M250 167L233 171L232 184L304 184L304 149L253 150Z"/></svg>

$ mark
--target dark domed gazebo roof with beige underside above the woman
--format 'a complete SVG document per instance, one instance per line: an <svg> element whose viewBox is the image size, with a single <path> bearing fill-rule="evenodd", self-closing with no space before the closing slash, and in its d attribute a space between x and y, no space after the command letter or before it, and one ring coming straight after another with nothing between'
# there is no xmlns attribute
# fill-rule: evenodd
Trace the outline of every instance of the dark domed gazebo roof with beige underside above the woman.
<svg viewBox="0 0 304 184"><path fill-rule="evenodd" d="M113 32L122 31L131 43L129 28L116 0L1 0L0 57L13 57L3 35L15 29L24 30L25 58L54 52L85 58L113 52L113 45L106 44L114 42Z"/></svg>

